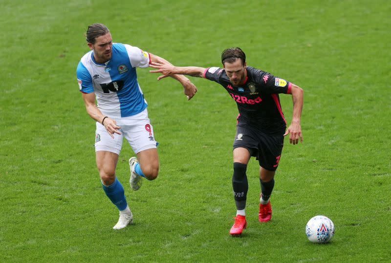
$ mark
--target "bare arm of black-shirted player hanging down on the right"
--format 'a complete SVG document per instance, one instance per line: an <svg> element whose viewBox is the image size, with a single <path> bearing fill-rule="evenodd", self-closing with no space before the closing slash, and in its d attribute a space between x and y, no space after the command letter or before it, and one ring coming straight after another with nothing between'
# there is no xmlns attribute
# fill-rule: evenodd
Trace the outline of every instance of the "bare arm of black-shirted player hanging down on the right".
<svg viewBox="0 0 391 263"><path fill-rule="evenodd" d="M284 136L289 134L289 142L293 144L303 142L302 127L300 126L300 117L303 110L303 89L292 83L291 94L293 100L292 122L286 130Z"/></svg>

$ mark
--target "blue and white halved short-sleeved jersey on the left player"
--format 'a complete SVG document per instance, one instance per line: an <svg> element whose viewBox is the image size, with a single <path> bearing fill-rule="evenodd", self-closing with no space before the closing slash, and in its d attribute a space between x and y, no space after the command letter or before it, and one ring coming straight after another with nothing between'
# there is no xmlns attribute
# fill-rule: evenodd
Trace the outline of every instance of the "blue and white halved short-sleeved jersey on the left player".
<svg viewBox="0 0 391 263"><path fill-rule="evenodd" d="M113 43L111 60L95 62L93 51L80 60L76 75L83 93L94 92L102 114L111 117L128 117L147 107L137 82L136 67L148 67L150 54L128 44Z"/></svg>

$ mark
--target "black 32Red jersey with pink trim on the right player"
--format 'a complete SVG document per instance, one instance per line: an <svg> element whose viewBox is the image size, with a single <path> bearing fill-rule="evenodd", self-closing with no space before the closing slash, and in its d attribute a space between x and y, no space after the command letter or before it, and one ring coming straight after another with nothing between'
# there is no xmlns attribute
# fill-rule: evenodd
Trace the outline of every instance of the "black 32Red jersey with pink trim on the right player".
<svg viewBox="0 0 391 263"><path fill-rule="evenodd" d="M238 104L239 125L251 125L265 133L281 132L286 128L279 93L290 94L291 83L272 74L247 66L244 84L234 86L225 70L207 68L204 78L221 84Z"/></svg>

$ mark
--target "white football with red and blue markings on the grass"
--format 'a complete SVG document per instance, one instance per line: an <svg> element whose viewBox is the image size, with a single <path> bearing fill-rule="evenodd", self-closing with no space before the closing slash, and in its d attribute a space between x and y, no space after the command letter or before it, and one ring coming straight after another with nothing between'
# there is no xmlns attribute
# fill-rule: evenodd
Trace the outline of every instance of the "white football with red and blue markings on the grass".
<svg viewBox="0 0 391 263"><path fill-rule="evenodd" d="M305 234L312 243L327 243L334 236L334 223L325 216L311 218L305 226Z"/></svg>

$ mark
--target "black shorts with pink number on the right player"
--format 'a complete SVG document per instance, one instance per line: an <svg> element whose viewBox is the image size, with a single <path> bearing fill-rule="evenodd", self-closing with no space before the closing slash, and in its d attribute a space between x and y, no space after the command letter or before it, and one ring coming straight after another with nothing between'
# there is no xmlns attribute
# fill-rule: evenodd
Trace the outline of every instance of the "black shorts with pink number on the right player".
<svg viewBox="0 0 391 263"><path fill-rule="evenodd" d="M284 145L284 131L269 135L249 126L237 126L234 149L246 148L250 155L256 157L262 168L275 171L280 162Z"/></svg>

